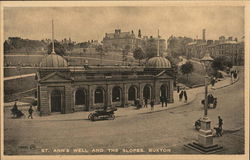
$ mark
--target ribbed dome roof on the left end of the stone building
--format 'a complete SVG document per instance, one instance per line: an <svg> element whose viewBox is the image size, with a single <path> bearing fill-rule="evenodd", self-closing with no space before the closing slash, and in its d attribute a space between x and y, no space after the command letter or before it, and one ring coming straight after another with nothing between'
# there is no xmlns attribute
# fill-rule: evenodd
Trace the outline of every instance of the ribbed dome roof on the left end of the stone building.
<svg viewBox="0 0 250 160"><path fill-rule="evenodd" d="M52 68L61 68L67 67L67 61L62 57L55 53L51 53L44 57L40 63L40 67L52 67Z"/></svg>

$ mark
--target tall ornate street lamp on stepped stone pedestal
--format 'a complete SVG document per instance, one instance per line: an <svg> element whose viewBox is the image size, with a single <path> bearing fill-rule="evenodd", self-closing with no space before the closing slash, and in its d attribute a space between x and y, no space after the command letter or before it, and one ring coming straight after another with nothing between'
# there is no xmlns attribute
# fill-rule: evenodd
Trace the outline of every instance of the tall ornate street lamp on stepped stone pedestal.
<svg viewBox="0 0 250 160"><path fill-rule="evenodd" d="M200 60L201 64L205 69L205 106L204 115L200 119L201 128L198 134L198 142L189 143L186 145L189 148L198 150L201 153L211 153L220 151L223 147L217 144L213 144L213 134L211 130L211 120L208 118L208 98L207 98L207 88L208 88L208 69L213 62L213 58L210 57L209 52L206 52L205 56Z"/></svg>

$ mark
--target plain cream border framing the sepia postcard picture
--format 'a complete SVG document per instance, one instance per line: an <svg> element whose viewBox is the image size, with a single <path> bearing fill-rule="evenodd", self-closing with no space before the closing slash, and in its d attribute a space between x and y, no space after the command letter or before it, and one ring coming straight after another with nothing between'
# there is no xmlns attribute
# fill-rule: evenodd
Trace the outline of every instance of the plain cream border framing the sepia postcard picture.
<svg viewBox="0 0 250 160"><path fill-rule="evenodd" d="M1 22L3 22L3 8L4 7L103 7L103 6L245 6L245 154L244 155L66 155L66 156L3 156L3 107L1 107L1 156L2 158L8 159L248 159L249 158L249 35L250 35L250 2L246 1L32 1L32 2L0 2L1 7ZM1 53L3 53L3 23L0 23L1 27ZM3 63L3 54L0 55L1 66ZM1 67L1 106L3 106L3 67Z"/></svg>

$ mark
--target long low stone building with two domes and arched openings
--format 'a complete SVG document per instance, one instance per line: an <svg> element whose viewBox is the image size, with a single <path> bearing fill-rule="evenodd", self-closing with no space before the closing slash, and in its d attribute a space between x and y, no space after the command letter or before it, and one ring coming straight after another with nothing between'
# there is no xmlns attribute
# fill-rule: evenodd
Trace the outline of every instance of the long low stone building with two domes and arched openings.
<svg viewBox="0 0 250 160"><path fill-rule="evenodd" d="M174 72L164 57L153 57L145 67L82 67L71 70L55 53L46 56L37 72L40 115L72 113L104 106L128 107L135 99L168 97L173 102Z"/></svg>

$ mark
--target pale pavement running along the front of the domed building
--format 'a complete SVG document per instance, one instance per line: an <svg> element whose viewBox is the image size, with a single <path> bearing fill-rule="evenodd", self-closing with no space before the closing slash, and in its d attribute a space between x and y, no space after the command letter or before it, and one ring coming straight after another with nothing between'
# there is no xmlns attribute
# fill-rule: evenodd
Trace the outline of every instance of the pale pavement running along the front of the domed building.
<svg viewBox="0 0 250 160"><path fill-rule="evenodd" d="M231 77L225 77L221 81L218 81L217 83L215 83L215 85L213 87L211 85L208 85L208 93L213 94L214 90L230 86L237 81L238 81L238 79L236 79L234 82L232 82ZM169 103L167 105L167 107L165 107L165 106L162 107L161 104L157 104L154 106L154 109L151 110L151 107L148 104L148 107L143 107L141 109L136 109L135 106L127 107L127 108L118 108L115 115L118 117L124 117L124 116L136 115L136 114L144 114L144 113L147 114L147 113L153 113L153 112L160 112L160 111L170 110L170 109L177 108L177 107L184 107L184 106L190 104L191 102L193 102L196 99L198 94L204 94L204 90L205 90L204 86L196 87L196 88L187 88L186 89L187 96L188 96L187 102L184 102L184 100L179 101L179 93L177 93L177 91L174 91L174 93L173 93L174 103ZM14 102L4 103L4 107L12 107L13 105L14 105ZM26 111L28 109L28 107L30 106L30 103L18 101L17 105L18 105L18 107L22 108L21 110ZM93 112L93 111L85 112L85 115L88 115L91 112ZM55 113L53 115L58 115L58 114ZM52 118L51 116L49 116L47 118L40 117L38 115L38 112L36 112L34 114L34 116L36 117L36 119L37 118L38 119L48 119L49 117ZM59 118L59 119L62 118L63 119L63 118L65 118L65 115L64 116L55 116L54 118ZM52 118L52 119L54 119L54 118Z"/></svg>

